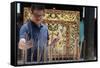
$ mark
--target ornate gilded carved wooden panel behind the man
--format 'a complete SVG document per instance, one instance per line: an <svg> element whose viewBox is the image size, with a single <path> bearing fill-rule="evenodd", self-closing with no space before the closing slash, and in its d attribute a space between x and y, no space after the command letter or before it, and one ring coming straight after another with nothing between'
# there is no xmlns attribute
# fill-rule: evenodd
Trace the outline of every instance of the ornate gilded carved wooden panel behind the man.
<svg viewBox="0 0 100 68"><path fill-rule="evenodd" d="M31 17L29 9L24 8L24 21ZM60 36L55 47L48 47L49 60L77 57L80 12L45 9L44 23L48 26L49 44L58 34Z"/></svg>

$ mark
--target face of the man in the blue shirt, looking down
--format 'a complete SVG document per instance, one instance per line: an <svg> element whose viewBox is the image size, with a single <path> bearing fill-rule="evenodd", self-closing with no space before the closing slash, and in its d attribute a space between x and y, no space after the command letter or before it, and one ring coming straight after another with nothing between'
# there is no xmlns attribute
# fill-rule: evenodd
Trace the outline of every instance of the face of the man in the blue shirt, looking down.
<svg viewBox="0 0 100 68"><path fill-rule="evenodd" d="M33 10L32 19L36 24L40 24L43 21L44 10Z"/></svg>

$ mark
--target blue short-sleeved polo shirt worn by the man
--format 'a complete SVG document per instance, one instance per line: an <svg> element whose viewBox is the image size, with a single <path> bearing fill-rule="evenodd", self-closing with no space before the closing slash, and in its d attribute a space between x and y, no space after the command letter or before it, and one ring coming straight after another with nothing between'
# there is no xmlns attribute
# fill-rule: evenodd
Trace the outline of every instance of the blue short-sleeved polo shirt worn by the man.
<svg viewBox="0 0 100 68"><path fill-rule="evenodd" d="M44 24L37 26L34 22L28 21L20 29L20 39L25 38L25 34L28 34L29 39L32 39L34 53L37 53L37 48L39 47L40 54L43 54L44 47L47 50L48 42L48 27Z"/></svg>

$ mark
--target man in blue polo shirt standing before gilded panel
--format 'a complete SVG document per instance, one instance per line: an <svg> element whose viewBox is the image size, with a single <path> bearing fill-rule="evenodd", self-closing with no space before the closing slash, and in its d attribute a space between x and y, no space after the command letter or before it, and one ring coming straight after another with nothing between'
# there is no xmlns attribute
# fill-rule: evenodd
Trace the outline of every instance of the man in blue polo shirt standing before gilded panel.
<svg viewBox="0 0 100 68"><path fill-rule="evenodd" d="M47 43L48 43L48 27L44 25L43 16L44 16L44 5L35 5L31 6L31 19L27 21L20 29L20 41L19 48L24 50L27 47L27 61L40 62L44 59L44 50L46 50L47 58ZM28 38L27 38L28 37ZM32 46L27 46L27 39L32 40ZM55 45L59 40L59 37L55 38L50 45ZM33 54L33 55L32 55ZM31 57L33 56L33 57ZM32 59L31 59L32 58Z"/></svg>

